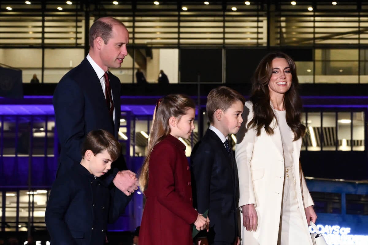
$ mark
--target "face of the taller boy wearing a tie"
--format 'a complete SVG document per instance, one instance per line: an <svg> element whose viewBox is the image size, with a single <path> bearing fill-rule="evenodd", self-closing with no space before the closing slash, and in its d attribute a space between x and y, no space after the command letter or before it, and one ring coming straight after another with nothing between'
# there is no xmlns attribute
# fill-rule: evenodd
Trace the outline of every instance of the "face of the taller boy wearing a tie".
<svg viewBox="0 0 368 245"><path fill-rule="evenodd" d="M236 134L239 131L241 123L243 122L243 118L241 117L243 109L243 103L237 100L233 103L233 105L223 112L221 124L226 131L225 134Z"/></svg>

